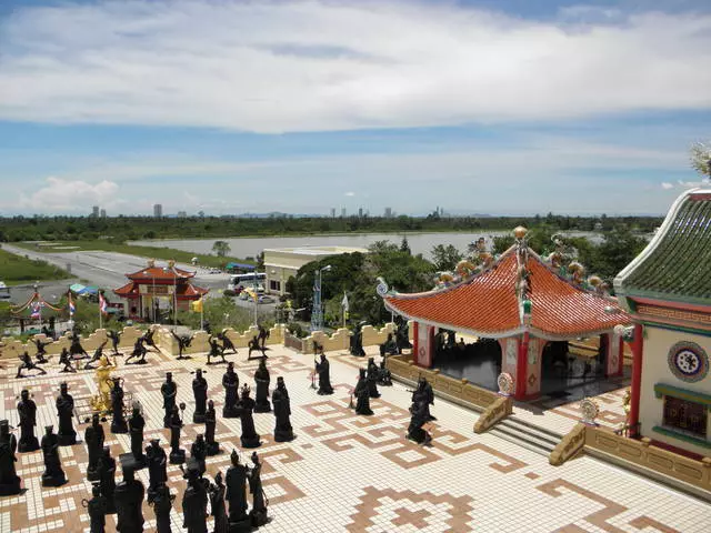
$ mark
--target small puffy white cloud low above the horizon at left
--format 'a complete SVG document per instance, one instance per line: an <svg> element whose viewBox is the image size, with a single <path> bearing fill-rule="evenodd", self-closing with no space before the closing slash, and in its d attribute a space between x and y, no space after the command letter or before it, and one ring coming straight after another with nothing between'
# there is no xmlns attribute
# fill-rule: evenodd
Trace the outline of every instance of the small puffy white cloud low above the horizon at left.
<svg viewBox="0 0 711 533"><path fill-rule="evenodd" d="M29 195L20 197L20 207L31 213L86 212L91 205L113 207L117 204L119 185L112 181L88 183L50 177L46 185Z"/></svg>

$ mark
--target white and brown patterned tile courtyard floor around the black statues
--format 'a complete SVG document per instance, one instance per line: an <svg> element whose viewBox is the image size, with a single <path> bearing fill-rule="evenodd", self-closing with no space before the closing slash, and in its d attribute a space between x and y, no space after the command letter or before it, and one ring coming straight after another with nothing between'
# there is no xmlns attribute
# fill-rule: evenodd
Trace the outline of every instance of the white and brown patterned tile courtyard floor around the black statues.
<svg viewBox="0 0 711 533"><path fill-rule="evenodd" d="M382 388L373 401L375 415L356 416L348 409L349 391L357 368L364 361L341 353L330 354L336 394L319 396L310 389L312 358L282 346L269 352L272 383L283 375L292 401L292 424L298 435L291 443L274 443L272 414L257 414L263 444L264 491L272 521L266 532L709 532L711 506L662 487L611 465L582 456L553 467L547 457L493 435L472 432L477 413L437 400L432 429L433 446L421 447L404 439L409 421L409 394L401 385ZM146 439L169 434L161 428L160 385L172 371L178 400L188 403L191 420L190 371L204 366L204 358L173 361L150 354L150 365L121 368L126 388L143 403ZM256 361L246 361L243 350L236 361L240 381L252 384ZM119 363L121 359L119 358ZM8 365L8 362L4 362ZM14 362L11 363L14 366ZM57 374L56 365L39 379L14 380L14 368L0 370L0 414L18 422L16 396L23 388L39 406L38 429L56 424L53 400L64 379L77 396L96 391L92 372ZM211 366L206 378L209 394L221 406L222 365ZM218 409L218 411L221 411ZM563 420L569 420L562 416ZM108 423L104 424L108 432ZM78 428L83 435L84 425ZM189 449L202 426L187 424L182 445ZM224 471L229 452L239 449L239 420L220 420L217 439L228 452L208 459L208 473ZM128 435L107 433L113 455L129 450ZM20 454L18 472L27 492L0 497L1 532L88 531L81 500L90 493L84 481L87 453L83 444L62 447L68 484L42 489L41 452ZM248 457L248 451L242 452ZM183 531L181 510L184 481L177 466L169 469L171 489L178 494L173 531ZM120 481L120 466L117 480ZM148 472L139 479L148 484ZM153 512L144 504L146 531L154 531ZM114 531L113 517L108 531Z"/></svg>

